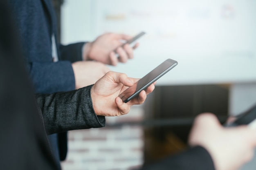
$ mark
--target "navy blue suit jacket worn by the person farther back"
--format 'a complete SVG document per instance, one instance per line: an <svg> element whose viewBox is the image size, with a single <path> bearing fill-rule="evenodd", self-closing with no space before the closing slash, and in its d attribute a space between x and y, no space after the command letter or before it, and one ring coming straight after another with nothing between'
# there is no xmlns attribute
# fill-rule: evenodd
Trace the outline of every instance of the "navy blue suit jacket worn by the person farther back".
<svg viewBox="0 0 256 170"><path fill-rule="evenodd" d="M57 42L57 22L51 0L8 1L20 33L27 70L35 92L54 93L74 90L75 78L71 64L82 59L81 49L84 42L66 46ZM53 62L52 59L53 33L58 62ZM56 159L64 160L67 154L67 132L51 135L49 139L52 148L55 148L53 152Z"/></svg>

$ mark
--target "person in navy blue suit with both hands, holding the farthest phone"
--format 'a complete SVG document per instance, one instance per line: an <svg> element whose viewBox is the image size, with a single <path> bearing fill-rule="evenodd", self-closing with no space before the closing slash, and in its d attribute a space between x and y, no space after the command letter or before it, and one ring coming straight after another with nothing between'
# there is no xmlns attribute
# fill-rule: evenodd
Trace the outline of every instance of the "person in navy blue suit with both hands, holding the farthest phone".
<svg viewBox="0 0 256 170"><path fill-rule="evenodd" d="M117 65L133 57L133 49L129 45L117 49L119 59L114 53L114 49L122 44L120 40L131 38L124 34L106 33L93 42L60 44L51 0L8 2L36 93L71 91L94 84L110 71L106 64ZM65 160L67 132L53 134L49 139L56 159Z"/></svg>

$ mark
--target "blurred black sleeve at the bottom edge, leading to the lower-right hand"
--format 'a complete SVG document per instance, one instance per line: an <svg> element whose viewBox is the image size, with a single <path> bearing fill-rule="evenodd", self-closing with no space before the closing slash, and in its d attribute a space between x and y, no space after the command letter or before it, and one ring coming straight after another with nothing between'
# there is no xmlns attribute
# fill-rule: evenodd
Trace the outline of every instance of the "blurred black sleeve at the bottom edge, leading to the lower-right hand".
<svg viewBox="0 0 256 170"><path fill-rule="evenodd" d="M196 146L140 170L215 170L215 168L209 152L201 146Z"/></svg>

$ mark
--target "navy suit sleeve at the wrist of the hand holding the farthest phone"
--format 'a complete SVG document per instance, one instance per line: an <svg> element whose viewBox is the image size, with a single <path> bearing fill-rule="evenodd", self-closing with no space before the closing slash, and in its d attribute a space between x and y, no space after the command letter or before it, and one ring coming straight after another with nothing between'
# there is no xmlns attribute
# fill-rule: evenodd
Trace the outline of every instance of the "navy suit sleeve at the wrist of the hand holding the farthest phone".
<svg viewBox="0 0 256 170"><path fill-rule="evenodd" d="M59 44L60 60L77 62L82 60L82 48L86 42L78 42L69 45Z"/></svg>

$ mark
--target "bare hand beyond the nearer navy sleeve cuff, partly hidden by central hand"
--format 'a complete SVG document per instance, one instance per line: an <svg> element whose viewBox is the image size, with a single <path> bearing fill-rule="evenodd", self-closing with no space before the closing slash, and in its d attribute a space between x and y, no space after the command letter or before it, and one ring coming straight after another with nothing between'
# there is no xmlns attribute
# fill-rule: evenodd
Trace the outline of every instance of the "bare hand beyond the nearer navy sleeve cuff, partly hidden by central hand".
<svg viewBox="0 0 256 170"><path fill-rule="evenodd" d="M72 63L74 71L76 89L89 86L97 82L110 69L100 62L95 61L79 61Z"/></svg>

